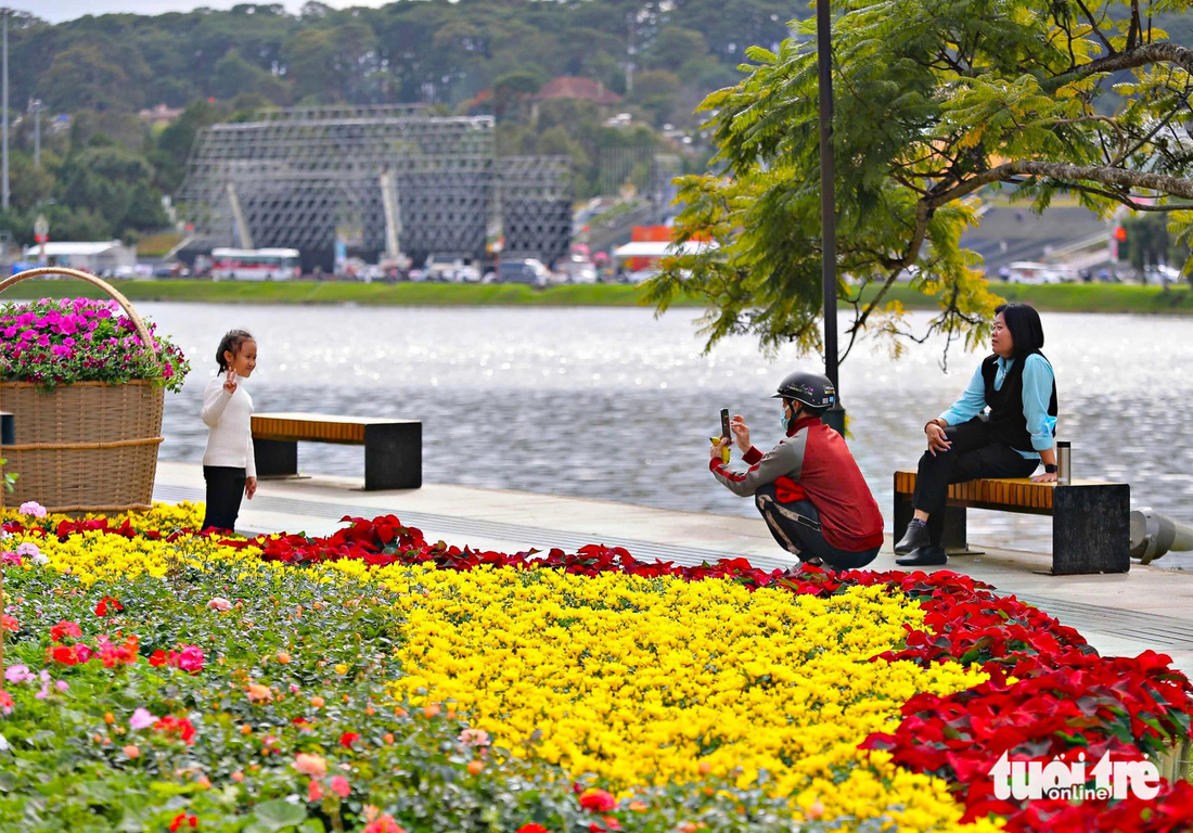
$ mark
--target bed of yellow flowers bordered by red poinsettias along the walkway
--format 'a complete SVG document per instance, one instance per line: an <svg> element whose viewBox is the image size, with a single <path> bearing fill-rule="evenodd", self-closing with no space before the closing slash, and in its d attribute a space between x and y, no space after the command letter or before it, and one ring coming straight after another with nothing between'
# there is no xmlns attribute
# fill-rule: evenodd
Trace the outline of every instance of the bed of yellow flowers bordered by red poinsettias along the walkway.
<svg viewBox="0 0 1193 833"><path fill-rule="evenodd" d="M1087 720L1078 709L1067 712L1067 722L1049 723L1049 708L1073 711L1081 693L1069 686L1083 678L1068 668L1084 670L1090 692L1105 691L1089 687L1102 685L1099 680L1120 681L1109 695L1095 696L1133 698L1121 702L1145 703L1158 716L1160 722L1144 726L1137 751L1167 742L1187 711L1188 684L1163 662L1144 656L1098 665L1075 631L962 576L779 575L744 561L674 568L600 547L527 559L428 544L391 517L357 519L326 539L265 536L246 542L193 535L188 529L199 518L200 507L187 505L110 520L47 518L29 526L10 524L14 535L4 548L27 554L33 547L37 559L24 569L37 569L36 563L67 576L62 580L75 590L58 587L58 594L81 601L103 594L97 616L110 603L123 610L117 597L128 603L129 592L156 594L159 585L185 597L184 616L205 610L197 593L229 596L208 605L235 619L228 635L209 637L217 643L209 650L218 654L221 666L228 662L225 673L249 692L254 709L285 699L280 680L266 678L277 677L274 664L289 665L292 656L309 653L317 637L303 617L319 611L321 628L351 629L347 642L324 643L322 658L308 656L313 670L291 678L290 692L310 686L311 673L322 674L332 696L338 685L372 686L371 697L384 701L378 705L402 721L439 715L466 721L458 741L464 752L445 760L458 765L480 754L468 764L469 777L489 766L489 746L503 749L494 754L508 761L502 766L511 784L525 772L534 778L555 772L556 780L562 776L591 790L599 786L599 795L585 792L580 806L593 813L638 813L630 817L639 819L642 829L673 829L650 821L654 808L661 817L678 817L674 807L662 809L673 801L684 802L684 813L699 817L704 812L710 819L713 806L736 807L746 814L742 829L749 829L748 806L780 828L787 819L817 831L993 831L1003 826L1003 816L1014 815L1016 829L1046 829L1063 808L1028 817L1030 808L991 796L983 761L1006 742L1000 738L1056 749L1083 736L1090 749L1118 745L1120 752L1131 751L1123 745L1123 729L1114 727L1133 720L1119 701L1106 701L1105 717ZM29 522L12 512L4 519ZM282 613L284 621L277 618ZM271 617L274 629L262 629ZM123 630L118 635L126 648L136 648ZM384 641L373 646L376 637ZM227 655L221 640L235 643ZM280 649L272 659L254 659L262 643ZM74 664L74 648L60 646L57 636L51 647ZM179 650L157 649L156 665L180 664L174 658L186 646L174 647ZM989 653L993 647L996 653ZM193 662L199 647L186 649L186 661ZM965 664L958 661L963 654ZM1031 685L1016 687L1007 670L1031 678ZM1041 679L1049 684L1041 687ZM316 701L323 708L324 697L310 698ZM345 704L352 701L342 695ZM376 715L372 701L366 702L365 715ZM909 711L910 703L916 705ZM1055 705L1041 709L1047 703ZM1021 717L1016 704L1025 706ZM915 715L911 722L909 715ZM1039 722L1036 715L1040 728L1032 722ZM230 730L240 718L221 720ZM303 714L274 718L265 727L276 733L266 739L273 746L262 753L282 753L286 732L297 732L296 749L309 746L304 739L319 717L314 720ZM922 727L922 738L915 726ZM401 736L395 730L377 741L375 734L370 746L365 727L359 728L342 733L338 746L371 748L384 758ZM367 760L359 766L375 794L390 795L387 765ZM409 764L391 772L402 773L403 766ZM932 775L941 772L957 779ZM326 795L316 786L310 786L310 802ZM341 788L347 789L334 789ZM536 790L543 788L513 789L542 795ZM1180 804L1187 792L1166 795ZM696 795L701 797L693 809ZM700 802L709 807L700 810ZM536 804L534 813L565 816L555 806L548 812L548 803ZM764 806L772 809L759 809ZM0 815L2 807L0 798ZM1078 810L1086 815L1074 817L1098 817L1082 808L1073 813ZM1127 804L1115 812L1160 817ZM725 829L741 828L716 817ZM616 829L616 816L602 816L591 829ZM679 829L699 829L685 825Z"/></svg>

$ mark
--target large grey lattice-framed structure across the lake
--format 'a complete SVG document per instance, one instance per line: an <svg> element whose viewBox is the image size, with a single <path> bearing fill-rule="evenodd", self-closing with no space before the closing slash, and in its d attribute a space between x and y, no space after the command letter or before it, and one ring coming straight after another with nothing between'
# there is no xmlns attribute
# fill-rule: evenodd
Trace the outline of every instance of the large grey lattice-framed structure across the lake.
<svg viewBox="0 0 1193 833"><path fill-rule="evenodd" d="M565 253L570 171L496 159L493 127L401 105L268 111L202 130L179 199L212 246L297 248L307 269L330 267L336 241L369 259L482 258L499 227L537 257Z"/></svg>

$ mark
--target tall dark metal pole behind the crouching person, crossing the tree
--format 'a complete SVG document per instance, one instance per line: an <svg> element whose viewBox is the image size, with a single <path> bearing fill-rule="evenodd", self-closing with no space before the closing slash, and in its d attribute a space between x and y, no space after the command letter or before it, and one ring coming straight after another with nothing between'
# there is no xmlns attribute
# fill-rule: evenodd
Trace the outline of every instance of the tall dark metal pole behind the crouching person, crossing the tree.
<svg viewBox="0 0 1193 833"><path fill-rule="evenodd" d="M833 19L829 0L816 2L816 63L820 69L821 280L824 291L824 375L836 388L836 403L824 421L845 436L845 409L837 380L836 348L836 195L833 190Z"/></svg>

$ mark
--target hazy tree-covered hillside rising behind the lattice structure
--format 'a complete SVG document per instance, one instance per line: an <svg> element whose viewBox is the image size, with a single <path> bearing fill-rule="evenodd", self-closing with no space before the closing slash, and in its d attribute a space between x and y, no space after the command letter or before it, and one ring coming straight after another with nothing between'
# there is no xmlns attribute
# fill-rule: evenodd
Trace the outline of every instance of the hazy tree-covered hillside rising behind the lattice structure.
<svg viewBox="0 0 1193 833"><path fill-rule="evenodd" d="M489 113L497 152L567 154L575 195L608 189L610 149L675 153L704 168L709 137L696 113L743 78L750 47L777 50L792 14L777 0L403 0L336 11L308 2L243 4L156 17L105 14L50 25L10 19L12 208L0 229L32 239L45 214L55 239L138 235L169 222L162 196L185 175L196 131L274 106L421 104L438 115ZM1173 39L1193 21L1156 14ZM616 105L533 103L552 79L591 79ZM33 161L39 100L41 165ZM138 116L183 109L173 123ZM610 127L625 112L629 124Z"/></svg>

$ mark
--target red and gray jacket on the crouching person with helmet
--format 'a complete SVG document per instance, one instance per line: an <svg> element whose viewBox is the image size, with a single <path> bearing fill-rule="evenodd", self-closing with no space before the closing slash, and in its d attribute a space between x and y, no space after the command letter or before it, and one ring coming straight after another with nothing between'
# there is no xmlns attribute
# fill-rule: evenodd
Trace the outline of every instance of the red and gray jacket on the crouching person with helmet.
<svg viewBox="0 0 1193 833"><path fill-rule="evenodd" d="M749 465L746 471L731 471L721 459L710 461L709 468L742 498L774 483L781 502L810 500L824 541L837 549L860 553L882 547L883 514L874 495L845 439L820 416L801 418L765 455L752 445L743 459Z"/></svg>

